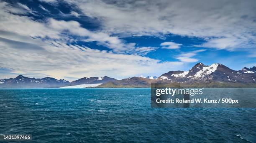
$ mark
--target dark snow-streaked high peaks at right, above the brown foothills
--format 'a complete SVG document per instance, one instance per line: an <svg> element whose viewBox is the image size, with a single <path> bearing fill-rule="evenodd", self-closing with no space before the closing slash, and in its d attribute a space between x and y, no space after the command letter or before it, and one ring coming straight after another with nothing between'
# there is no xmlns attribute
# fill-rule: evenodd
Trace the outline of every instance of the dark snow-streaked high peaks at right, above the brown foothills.
<svg viewBox="0 0 256 143"><path fill-rule="evenodd" d="M210 66L206 66L202 63L197 63L188 72L171 71L166 74L162 74L158 79L181 83L218 81L220 83L229 82L234 84L255 84L255 70L256 67L252 67L250 69L245 67L240 71L235 71L223 64L212 64Z"/></svg>

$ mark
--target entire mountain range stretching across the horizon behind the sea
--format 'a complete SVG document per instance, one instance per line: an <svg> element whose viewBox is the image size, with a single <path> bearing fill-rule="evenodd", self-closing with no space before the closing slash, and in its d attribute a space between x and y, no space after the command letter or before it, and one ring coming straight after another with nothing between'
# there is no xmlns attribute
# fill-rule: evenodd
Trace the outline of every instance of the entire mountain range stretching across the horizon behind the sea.
<svg viewBox="0 0 256 143"><path fill-rule="evenodd" d="M230 69L223 64L197 63L189 71L170 71L156 76L140 76L117 80L108 76L84 77L72 82L64 79L45 77L29 78L22 75L1 79L0 88L56 88L81 84L101 84L96 88L140 88L150 87L151 83L179 83L184 87L256 87L256 67L241 70Z"/></svg>

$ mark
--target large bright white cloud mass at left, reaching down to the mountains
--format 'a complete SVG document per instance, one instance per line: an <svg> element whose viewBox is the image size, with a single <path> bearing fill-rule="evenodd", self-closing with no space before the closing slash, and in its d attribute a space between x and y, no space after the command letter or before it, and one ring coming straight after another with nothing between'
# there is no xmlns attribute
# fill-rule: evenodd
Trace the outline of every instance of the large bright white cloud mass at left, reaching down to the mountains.
<svg viewBox="0 0 256 143"><path fill-rule="evenodd" d="M12 69L9 74L0 74L1 79L13 77L13 74L58 79L107 75L122 79L138 74L160 75L183 66L182 62L142 57L156 47L136 48L135 43L125 44L107 33L89 31L79 22L49 19L40 23L27 16L9 13L8 10L15 7L6 2L0 2L0 8L0 65ZM107 52L67 44L72 38L65 32L85 41L100 42L113 50ZM126 51L130 54L122 54Z"/></svg>

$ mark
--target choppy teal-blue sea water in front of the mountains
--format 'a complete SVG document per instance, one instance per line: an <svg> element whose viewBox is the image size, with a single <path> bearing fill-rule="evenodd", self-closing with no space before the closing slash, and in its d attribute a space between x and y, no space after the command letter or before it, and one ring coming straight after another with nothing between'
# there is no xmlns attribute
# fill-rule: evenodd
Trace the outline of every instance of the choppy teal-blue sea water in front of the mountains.
<svg viewBox="0 0 256 143"><path fill-rule="evenodd" d="M32 134L28 143L256 142L256 108L151 108L150 94L0 89L0 133Z"/></svg>

